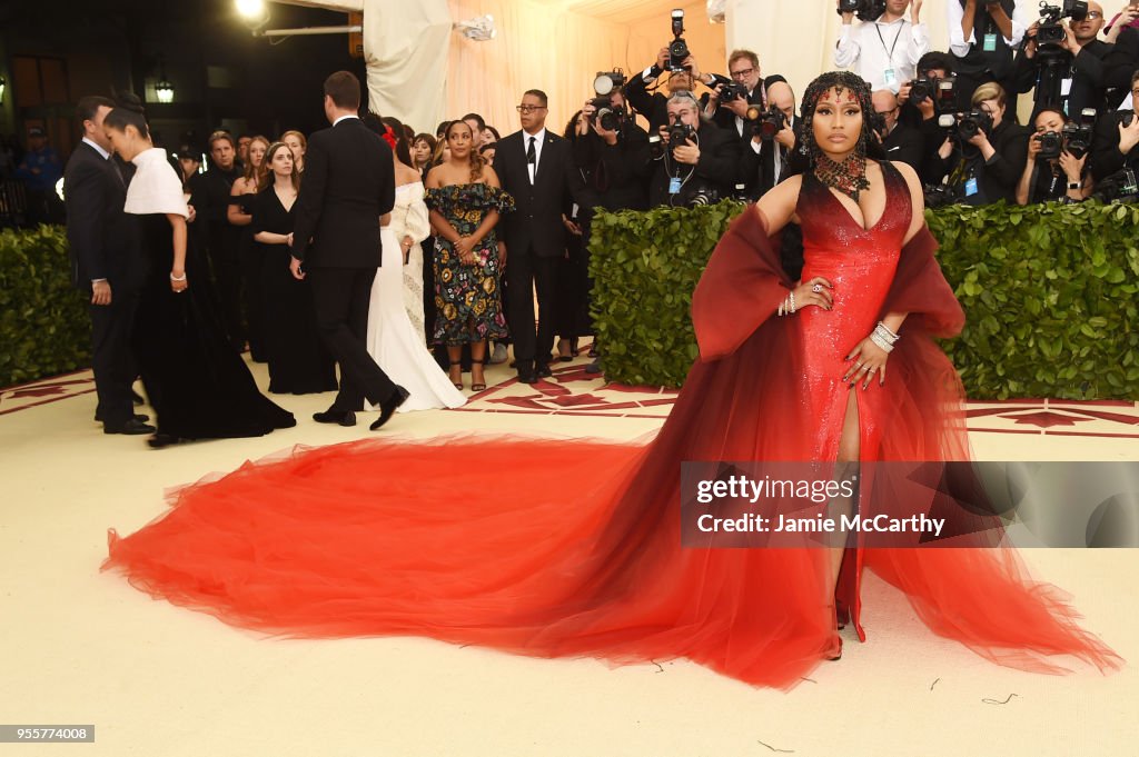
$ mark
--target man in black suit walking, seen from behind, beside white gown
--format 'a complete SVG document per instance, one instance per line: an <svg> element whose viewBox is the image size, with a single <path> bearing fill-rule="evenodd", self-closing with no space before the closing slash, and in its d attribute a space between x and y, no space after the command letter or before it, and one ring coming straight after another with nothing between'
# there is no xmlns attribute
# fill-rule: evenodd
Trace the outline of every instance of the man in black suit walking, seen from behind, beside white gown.
<svg viewBox="0 0 1139 757"><path fill-rule="evenodd" d="M392 148L357 116L360 81L346 71L325 80L325 116L330 129L309 138L304 182L290 234L293 275L312 275L317 327L341 365L333 405L313 414L320 423L355 425L368 398L379 406L371 430L407 400L364 346L371 283L379 268L379 224L395 205ZM304 270L302 270L302 264Z"/></svg>

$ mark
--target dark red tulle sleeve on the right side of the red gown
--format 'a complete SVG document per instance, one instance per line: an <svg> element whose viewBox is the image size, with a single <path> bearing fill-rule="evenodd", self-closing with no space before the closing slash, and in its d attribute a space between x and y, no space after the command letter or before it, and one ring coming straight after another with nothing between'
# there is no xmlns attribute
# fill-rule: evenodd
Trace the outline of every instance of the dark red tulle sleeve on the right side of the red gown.
<svg viewBox="0 0 1139 757"><path fill-rule="evenodd" d="M909 313L907 330L920 328L931 336L949 338L961 332L965 311L933 256L936 249L937 240L923 225L902 248L882 315Z"/></svg>

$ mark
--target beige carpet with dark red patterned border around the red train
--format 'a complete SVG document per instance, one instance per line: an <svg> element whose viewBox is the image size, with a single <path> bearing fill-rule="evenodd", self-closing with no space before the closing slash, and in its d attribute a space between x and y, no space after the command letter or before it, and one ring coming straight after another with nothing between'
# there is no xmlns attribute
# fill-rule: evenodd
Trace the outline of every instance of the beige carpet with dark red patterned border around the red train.
<svg viewBox="0 0 1139 757"><path fill-rule="evenodd" d="M467 408L401 413L384 433L633 439L658 428L672 394L606 387L584 362L534 387L495 367ZM685 661L613 669L423 639L280 641L233 630L100 574L106 529L139 528L162 513L164 488L211 471L364 437L369 417L352 429L319 426L308 418L327 395L285 397L301 419L294 429L151 451L99 431L91 388L79 373L0 392L0 723L93 724L96 742L0 744L0 755L1139 754L1133 665L1106 677L998 667L931 635L872 575L867 643L847 635L843 659L790 693ZM970 429L983 459L1139 459L1139 411L1126 403L975 403ZM1074 594L1089 628L1139 659L1139 551L1025 559Z"/></svg>

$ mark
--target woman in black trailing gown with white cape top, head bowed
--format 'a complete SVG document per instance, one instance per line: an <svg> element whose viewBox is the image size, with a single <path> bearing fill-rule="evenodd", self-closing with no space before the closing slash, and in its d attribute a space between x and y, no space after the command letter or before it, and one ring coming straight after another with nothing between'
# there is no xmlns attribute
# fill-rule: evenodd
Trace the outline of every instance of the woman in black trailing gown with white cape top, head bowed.
<svg viewBox="0 0 1139 757"><path fill-rule="evenodd" d="M270 402L226 339L206 289L190 286L186 199L166 151L150 142L137 98L104 121L115 151L137 167L125 211L138 216L150 270L139 303L134 348L157 415L153 447L179 439L262 436L296 425Z"/></svg>

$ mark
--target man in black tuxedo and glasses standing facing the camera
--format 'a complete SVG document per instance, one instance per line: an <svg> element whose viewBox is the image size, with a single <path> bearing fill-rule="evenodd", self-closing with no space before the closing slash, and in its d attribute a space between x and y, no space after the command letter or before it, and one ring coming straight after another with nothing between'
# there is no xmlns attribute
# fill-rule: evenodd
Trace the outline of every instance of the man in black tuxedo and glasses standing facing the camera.
<svg viewBox="0 0 1139 757"><path fill-rule="evenodd" d="M546 105L544 92L527 90L517 106L522 130L499 140L494 153L494 171L515 200L514 212L502 217L499 244L508 250L506 315L518 380L525 384L550 376L557 264L566 255L562 212L582 195L570 143L546 130Z"/></svg>

